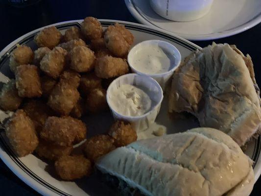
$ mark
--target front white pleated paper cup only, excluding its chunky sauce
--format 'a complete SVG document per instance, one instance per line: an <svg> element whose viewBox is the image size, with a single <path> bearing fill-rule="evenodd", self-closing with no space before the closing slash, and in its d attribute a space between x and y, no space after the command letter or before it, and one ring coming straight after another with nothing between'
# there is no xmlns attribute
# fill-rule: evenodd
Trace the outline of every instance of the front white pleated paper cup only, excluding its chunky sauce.
<svg viewBox="0 0 261 196"><path fill-rule="evenodd" d="M112 107L112 93L114 90L119 89L121 85L130 84L135 87L145 89L149 98L154 101L153 106L148 112L141 116L124 116L117 112L116 108ZM113 114L114 119L124 120L131 123L136 132L142 132L155 122L157 115L159 114L161 103L163 100L163 91L159 83L151 77L145 75L139 75L136 73L129 73L116 78L108 87L106 95L107 103ZM121 105L125 107L125 105Z"/></svg>

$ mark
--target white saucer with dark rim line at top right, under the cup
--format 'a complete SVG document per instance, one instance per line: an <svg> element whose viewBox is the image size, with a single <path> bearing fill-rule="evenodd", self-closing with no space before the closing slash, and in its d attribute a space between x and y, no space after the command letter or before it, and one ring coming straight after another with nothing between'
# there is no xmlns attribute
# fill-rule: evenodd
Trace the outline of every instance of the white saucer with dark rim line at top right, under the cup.
<svg viewBox="0 0 261 196"><path fill-rule="evenodd" d="M173 22L156 14L149 0L125 0L142 24L165 29L189 40L211 40L245 31L261 22L261 0L214 0L210 12L190 22Z"/></svg>

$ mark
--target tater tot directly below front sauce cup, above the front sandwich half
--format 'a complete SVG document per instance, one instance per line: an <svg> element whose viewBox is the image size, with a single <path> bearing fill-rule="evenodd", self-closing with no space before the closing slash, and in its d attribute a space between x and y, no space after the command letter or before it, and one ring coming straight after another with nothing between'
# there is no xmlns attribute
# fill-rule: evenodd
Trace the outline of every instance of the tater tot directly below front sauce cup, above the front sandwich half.
<svg viewBox="0 0 261 196"><path fill-rule="evenodd" d="M117 121L110 127L108 134L114 139L116 147L127 146L137 140L137 133L130 123Z"/></svg>

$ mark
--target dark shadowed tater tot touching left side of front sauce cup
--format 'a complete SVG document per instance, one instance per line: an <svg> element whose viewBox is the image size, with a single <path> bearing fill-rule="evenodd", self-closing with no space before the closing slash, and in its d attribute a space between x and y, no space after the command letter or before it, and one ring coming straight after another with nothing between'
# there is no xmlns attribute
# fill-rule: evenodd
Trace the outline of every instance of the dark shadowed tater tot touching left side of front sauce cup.
<svg viewBox="0 0 261 196"><path fill-rule="evenodd" d="M102 88L92 89L87 96L86 107L92 113L108 109L106 91Z"/></svg>

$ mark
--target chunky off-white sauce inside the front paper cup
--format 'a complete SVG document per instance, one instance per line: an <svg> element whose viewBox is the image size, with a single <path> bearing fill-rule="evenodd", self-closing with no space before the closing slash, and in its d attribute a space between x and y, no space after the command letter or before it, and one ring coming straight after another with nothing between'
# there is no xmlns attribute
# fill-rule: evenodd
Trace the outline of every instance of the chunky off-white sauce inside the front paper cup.
<svg viewBox="0 0 261 196"><path fill-rule="evenodd" d="M151 102L142 89L130 84L113 89L110 97L111 107L124 116L142 116L150 110Z"/></svg>

